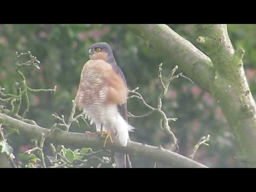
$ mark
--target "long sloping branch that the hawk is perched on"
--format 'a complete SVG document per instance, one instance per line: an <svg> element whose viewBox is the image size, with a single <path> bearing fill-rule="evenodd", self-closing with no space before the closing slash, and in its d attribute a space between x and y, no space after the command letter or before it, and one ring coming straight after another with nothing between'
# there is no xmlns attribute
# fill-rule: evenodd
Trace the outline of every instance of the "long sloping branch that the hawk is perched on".
<svg viewBox="0 0 256 192"><path fill-rule="evenodd" d="M0 122L19 129L20 134L27 138L40 138L42 133L46 134L46 132L49 130L37 125L27 124L2 113L0 113ZM80 134L55 129L48 134L45 141L53 144L71 145L82 148L103 146L104 139L96 133L86 132L86 134ZM148 157L155 161L168 163L174 167L207 168L198 162L166 150L161 146L154 147L129 141L126 147L115 144L107 144L106 148L113 151L132 154L133 156Z"/></svg>

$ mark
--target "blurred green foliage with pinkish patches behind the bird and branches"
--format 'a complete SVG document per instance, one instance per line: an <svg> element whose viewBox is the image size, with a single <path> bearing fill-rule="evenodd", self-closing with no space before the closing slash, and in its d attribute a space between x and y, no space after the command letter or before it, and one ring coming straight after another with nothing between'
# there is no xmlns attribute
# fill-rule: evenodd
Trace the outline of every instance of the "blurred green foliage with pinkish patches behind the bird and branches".
<svg viewBox="0 0 256 192"><path fill-rule="evenodd" d="M192 24L168 24L178 34L195 46L196 33ZM252 94L256 93L256 25L230 24L228 33L235 49L245 49L244 67ZM0 86L5 92L14 93L14 82L18 80L15 71L15 52L28 50L40 60L40 70L31 67L22 71L27 84L32 88L57 86L51 93L30 94L31 107L26 116L38 125L50 128L55 120L54 112L68 118L72 100L78 89L80 72L89 59L88 48L95 42L108 42L113 49L116 62L124 72L130 89L140 87L139 92L152 106L157 104L161 90L158 82L158 64L163 62L163 75L175 66L164 60L148 47L144 40L118 24L1 24L0 25ZM200 47L198 47L200 49ZM182 72L179 71L178 72ZM22 108L23 107L23 108ZM21 106L24 110L25 106ZM146 113L140 101L128 101L128 110L135 115ZM176 117L170 126L178 138L178 153L189 157L201 136L210 134L210 146L200 146L194 160L210 167L244 167L234 160L239 156L238 146L226 120L212 96L184 78L170 85L163 100L163 110L169 117ZM131 140L168 148L169 138L160 130L159 116L152 114L145 118L130 118L136 130ZM85 132L86 124L80 128L71 126L72 132ZM32 148L30 141L18 135L10 135L14 154ZM70 147L70 146L67 146ZM50 149L46 147L47 151ZM131 157L134 167L150 167L148 159Z"/></svg>

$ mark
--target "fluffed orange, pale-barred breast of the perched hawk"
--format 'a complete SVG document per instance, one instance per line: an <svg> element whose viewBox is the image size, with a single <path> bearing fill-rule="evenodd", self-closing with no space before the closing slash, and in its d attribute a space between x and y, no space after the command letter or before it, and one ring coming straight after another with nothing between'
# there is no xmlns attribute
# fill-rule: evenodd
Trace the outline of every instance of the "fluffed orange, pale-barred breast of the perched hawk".
<svg viewBox="0 0 256 192"><path fill-rule="evenodd" d="M110 64L89 60L82 70L76 102L80 108L98 108L126 102L127 88Z"/></svg>

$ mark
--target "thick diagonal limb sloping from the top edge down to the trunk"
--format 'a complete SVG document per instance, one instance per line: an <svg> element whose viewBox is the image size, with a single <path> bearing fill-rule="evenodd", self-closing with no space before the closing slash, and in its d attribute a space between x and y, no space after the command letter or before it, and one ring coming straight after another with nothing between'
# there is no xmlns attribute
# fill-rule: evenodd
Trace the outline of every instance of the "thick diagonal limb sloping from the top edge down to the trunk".
<svg viewBox="0 0 256 192"><path fill-rule="evenodd" d="M124 26L141 36L156 52L174 61L186 76L210 92L214 67L211 60L192 43L165 24L124 24Z"/></svg>

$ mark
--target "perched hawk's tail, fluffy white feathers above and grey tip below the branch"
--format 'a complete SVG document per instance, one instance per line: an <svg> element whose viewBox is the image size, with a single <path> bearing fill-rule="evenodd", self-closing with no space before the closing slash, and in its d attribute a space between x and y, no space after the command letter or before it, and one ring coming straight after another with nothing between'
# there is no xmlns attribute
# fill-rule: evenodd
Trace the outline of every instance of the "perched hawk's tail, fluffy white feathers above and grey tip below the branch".
<svg viewBox="0 0 256 192"><path fill-rule="evenodd" d="M115 124L115 130L117 132L116 141L122 146L126 146L129 140L129 131L133 131L134 127L130 126L122 116L118 116ZM117 168L132 168L130 158L128 154L115 152L114 159Z"/></svg>

